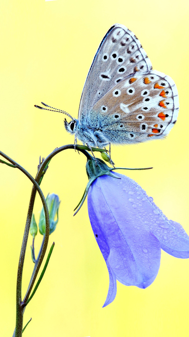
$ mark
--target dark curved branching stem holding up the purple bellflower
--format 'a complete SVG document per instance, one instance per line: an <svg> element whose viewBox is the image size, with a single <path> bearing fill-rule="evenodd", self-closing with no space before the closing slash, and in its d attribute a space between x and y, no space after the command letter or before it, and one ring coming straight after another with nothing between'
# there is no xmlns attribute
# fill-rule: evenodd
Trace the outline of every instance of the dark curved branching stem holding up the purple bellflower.
<svg viewBox="0 0 189 337"><path fill-rule="evenodd" d="M49 161L59 152L66 150L66 149L76 149L83 154L89 159L91 158L91 155L86 151L90 151L90 149L87 146L79 146L79 145L64 145L58 149L55 149L52 153L50 153L49 156L41 163L38 173L36 175L36 179L34 179L28 171L26 171L22 166L20 166L17 162L15 162L13 159L8 157L6 154L4 154L2 151L0 151L0 155L4 157L6 160L8 160L12 165L4 162L3 160L0 160L1 163L4 163L8 166L18 168L22 173L24 173L33 183L32 187L32 193L30 197L30 203L29 203L29 209L28 209L28 215L27 215L27 221L26 221L26 226L25 226L25 231L23 235L23 240L22 240L22 246L21 246L21 251L20 251L20 257L19 257L19 263L18 263L18 271L17 271L17 283L16 283L16 327L14 330L13 336L15 337L21 337L22 336L22 326L23 326L23 312L25 311L25 306L28 301L28 298L30 296L31 290L33 288L34 282L36 280L37 274L39 272L41 263L43 261L47 245L48 245L48 239L49 239L49 213L48 213L48 208L46 204L45 197L39 187L39 184L41 183L41 177L44 175L44 169L45 166L49 163ZM102 149L95 149L92 148L92 151L99 151L99 152L104 152ZM28 236L29 236L29 231L30 231L30 224L31 224L31 219L32 219L32 213L33 213L33 208L34 208L34 202L35 202L35 196L36 192L38 191L41 201L44 207L44 212L45 212L45 221L46 221L46 231L45 231L45 236L44 236L44 241L42 243L42 246L40 249L40 252L38 254L38 258L35 263L34 271L30 280L30 284L26 293L25 298L23 301L21 301L21 285L22 285L22 272L23 272L23 264L24 264L24 259L25 259L25 254L26 254L26 247L27 247L27 242L28 242Z"/></svg>

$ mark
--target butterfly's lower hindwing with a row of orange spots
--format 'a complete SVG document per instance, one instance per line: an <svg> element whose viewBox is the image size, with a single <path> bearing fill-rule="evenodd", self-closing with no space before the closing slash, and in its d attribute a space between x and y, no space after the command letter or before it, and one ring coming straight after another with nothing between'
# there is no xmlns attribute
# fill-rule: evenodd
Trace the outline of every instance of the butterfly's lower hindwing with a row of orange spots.
<svg viewBox="0 0 189 337"><path fill-rule="evenodd" d="M92 108L94 126L114 144L163 138L176 123L178 111L174 81L156 70L128 76Z"/></svg>

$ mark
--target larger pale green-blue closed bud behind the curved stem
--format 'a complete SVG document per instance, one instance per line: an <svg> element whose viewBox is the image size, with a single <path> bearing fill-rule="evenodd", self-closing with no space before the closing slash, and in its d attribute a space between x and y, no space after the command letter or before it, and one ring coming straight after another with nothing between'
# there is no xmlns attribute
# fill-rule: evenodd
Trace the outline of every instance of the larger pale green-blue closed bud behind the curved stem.
<svg viewBox="0 0 189 337"><path fill-rule="evenodd" d="M58 208L59 208L59 197L57 194L51 193L48 194L46 197L46 203L49 211L49 221L50 221L50 233L55 231L56 225L58 222ZM57 215L57 219L55 219L55 216ZM39 232L42 235L45 235L45 212L44 208L41 210L40 218L39 218Z"/></svg>

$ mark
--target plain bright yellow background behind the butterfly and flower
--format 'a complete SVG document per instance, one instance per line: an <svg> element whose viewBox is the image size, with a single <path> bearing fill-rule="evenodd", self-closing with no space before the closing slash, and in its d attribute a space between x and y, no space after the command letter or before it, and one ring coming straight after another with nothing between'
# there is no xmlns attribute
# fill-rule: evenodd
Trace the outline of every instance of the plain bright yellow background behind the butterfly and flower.
<svg viewBox="0 0 189 337"><path fill-rule="evenodd" d="M117 166L147 167L124 172L136 180L168 218L189 233L188 60L189 2L1 0L0 149L36 175L39 156L74 142L64 116L34 108L41 100L78 115L85 78L97 47L118 22L140 39L153 68L170 75L180 97L178 122L166 140L112 146ZM73 217L87 183L85 157L67 150L50 163L41 188L61 204L55 248L46 274L26 308L24 336L151 337L188 336L189 259L162 252L159 273L146 289L117 282L105 308L108 272L90 226L87 202ZM123 172L120 172L123 173ZM0 165L0 335L15 326L17 264L31 193L18 170ZM36 198L39 219L41 201ZM36 238L36 250L42 237ZM23 294L33 268L29 237Z"/></svg>

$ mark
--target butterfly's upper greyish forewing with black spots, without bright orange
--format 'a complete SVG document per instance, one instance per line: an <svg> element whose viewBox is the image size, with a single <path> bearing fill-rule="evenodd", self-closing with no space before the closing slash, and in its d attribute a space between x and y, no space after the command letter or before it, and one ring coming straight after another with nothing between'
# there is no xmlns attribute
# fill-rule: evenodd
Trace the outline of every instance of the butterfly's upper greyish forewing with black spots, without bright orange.
<svg viewBox="0 0 189 337"><path fill-rule="evenodd" d="M87 75L79 121L87 121L92 106L123 78L150 69L151 62L137 37L123 25L112 26L101 41Z"/></svg>

